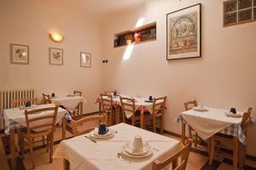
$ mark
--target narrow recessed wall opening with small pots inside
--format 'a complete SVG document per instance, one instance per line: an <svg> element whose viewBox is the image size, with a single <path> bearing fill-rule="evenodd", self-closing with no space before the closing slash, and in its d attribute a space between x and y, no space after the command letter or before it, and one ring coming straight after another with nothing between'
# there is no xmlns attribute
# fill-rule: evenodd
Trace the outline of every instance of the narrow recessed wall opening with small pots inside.
<svg viewBox="0 0 256 170"><path fill-rule="evenodd" d="M136 41L134 36L136 33L139 34L139 41ZM126 42L128 39L131 40L130 44ZM154 40L156 40L156 22L115 34L113 48L124 47L142 42L150 42Z"/></svg>

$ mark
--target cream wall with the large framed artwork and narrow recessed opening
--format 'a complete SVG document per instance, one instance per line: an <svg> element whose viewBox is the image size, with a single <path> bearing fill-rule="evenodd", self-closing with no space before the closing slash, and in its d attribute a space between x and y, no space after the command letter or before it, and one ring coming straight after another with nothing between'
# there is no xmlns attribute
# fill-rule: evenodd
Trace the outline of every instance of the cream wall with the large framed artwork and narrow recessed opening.
<svg viewBox="0 0 256 170"><path fill-rule="evenodd" d="M202 57L166 60L166 14L202 3ZM256 104L256 22L223 27L223 1L157 0L144 6L109 14L102 25L102 88L118 89L122 94L167 95L165 129L181 132L175 118L184 110L183 102L197 99L204 105L247 111ZM113 48L113 35L133 28L137 20L157 22L157 41L134 46L131 58L123 60L127 47ZM256 156L253 135L248 128L247 154Z"/></svg>

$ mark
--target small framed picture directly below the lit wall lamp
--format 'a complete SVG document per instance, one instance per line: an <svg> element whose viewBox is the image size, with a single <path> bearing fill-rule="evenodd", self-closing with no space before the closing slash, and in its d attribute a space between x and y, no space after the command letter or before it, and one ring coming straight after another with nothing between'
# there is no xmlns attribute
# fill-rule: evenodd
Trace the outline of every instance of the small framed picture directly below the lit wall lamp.
<svg viewBox="0 0 256 170"><path fill-rule="evenodd" d="M62 48L49 48L49 65L63 65Z"/></svg>

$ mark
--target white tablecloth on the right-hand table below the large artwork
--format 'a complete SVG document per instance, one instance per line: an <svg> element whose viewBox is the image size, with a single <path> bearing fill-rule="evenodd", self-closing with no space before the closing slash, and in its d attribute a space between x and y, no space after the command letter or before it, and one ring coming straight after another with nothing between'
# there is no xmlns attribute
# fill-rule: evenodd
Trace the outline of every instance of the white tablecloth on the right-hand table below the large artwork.
<svg viewBox="0 0 256 170"><path fill-rule="evenodd" d="M207 111L183 111L183 113L177 117L177 122L181 121L181 118L191 126L196 133L202 139L208 139L213 134L221 132L227 127L237 127L241 125L241 117L225 116L225 112L229 112L222 109L215 109L206 107ZM241 127L240 127L241 128ZM238 136L239 130L234 130L234 136ZM235 133L236 132L236 133Z"/></svg>

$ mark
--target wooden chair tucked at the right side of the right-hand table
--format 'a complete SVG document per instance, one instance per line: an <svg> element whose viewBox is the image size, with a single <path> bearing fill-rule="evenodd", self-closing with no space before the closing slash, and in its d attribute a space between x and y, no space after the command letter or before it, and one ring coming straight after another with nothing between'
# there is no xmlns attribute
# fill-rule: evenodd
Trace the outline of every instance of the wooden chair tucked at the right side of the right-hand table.
<svg viewBox="0 0 256 170"><path fill-rule="evenodd" d="M251 116L251 113L253 111L253 108L249 108L247 112L245 112L242 116L241 120L241 129L242 132L245 133L245 136L247 137L247 121L249 120L249 117ZM235 150L234 145L239 142L234 139L233 136L223 134L223 133L216 133L211 137L211 155L210 155L210 161L209 164L212 164L213 161L213 156L214 156L214 150L215 150L215 144L217 143L224 143L227 144L229 143L230 145L233 145L232 150L233 150L233 167L237 167L237 162L235 160L238 160L239 156L242 156L242 162L239 162L239 167L244 165L246 161L246 145L245 144L240 144L242 153L239 153L236 155L237 151L240 152L241 150ZM221 145L221 147L228 148L227 146ZM230 149L230 148L229 148Z"/></svg>

